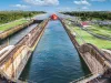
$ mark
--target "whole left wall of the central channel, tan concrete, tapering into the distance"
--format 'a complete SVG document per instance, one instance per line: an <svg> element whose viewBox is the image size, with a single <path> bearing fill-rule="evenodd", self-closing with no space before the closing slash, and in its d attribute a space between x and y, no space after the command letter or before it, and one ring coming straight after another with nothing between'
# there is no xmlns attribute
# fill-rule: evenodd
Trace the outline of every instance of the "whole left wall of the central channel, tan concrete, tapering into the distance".
<svg viewBox="0 0 111 83"><path fill-rule="evenodd" d="M44 20L39 27L36 27L32 31L30 31L29 33L31 34L31 37L27 38L27 35L29 34L28 33L14 45L12 52L7 55L4 63L0 66L0 71L2 71L7 75L8 80L18 80L29 58L31 56L32 51L42 37L48 21L49 19ZM28 41L29 39L33 38L34 40ZM32 45L29 45L30 42L32 42Z"/></svg>

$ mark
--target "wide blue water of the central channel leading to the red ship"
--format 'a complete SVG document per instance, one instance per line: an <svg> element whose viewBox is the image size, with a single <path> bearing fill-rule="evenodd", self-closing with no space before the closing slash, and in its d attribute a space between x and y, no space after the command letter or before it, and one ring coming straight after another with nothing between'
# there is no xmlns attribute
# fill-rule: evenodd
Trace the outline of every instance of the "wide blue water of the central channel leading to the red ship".
<svg viewBox="0 0 111 83"><path fill-rule="evenodd" d="M69 83L90 72L60 21L50 21L20 79L34 83Z"/></svg>

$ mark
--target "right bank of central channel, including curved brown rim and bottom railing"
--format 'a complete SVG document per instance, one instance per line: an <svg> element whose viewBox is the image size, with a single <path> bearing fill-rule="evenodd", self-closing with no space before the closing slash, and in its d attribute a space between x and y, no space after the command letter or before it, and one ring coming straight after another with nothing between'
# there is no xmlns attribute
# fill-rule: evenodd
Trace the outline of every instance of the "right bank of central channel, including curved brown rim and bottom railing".
<svg viewBox="0 0 111 83"><path fill-rule="evenodd" d="M91 43L83 42L83 44L80 45L80 43L78 43L75 39L79 34L74 32L72 33L64 19L60 19L60 21L68 32L73 45L75 45L80 56L84 60L91 71L90 75L80 77L79 80L74 80L71 83L109 83L109 79L103 79L103 76L105 75L104 73L110 69L109 59L105 58L107 54Z"/></svg>

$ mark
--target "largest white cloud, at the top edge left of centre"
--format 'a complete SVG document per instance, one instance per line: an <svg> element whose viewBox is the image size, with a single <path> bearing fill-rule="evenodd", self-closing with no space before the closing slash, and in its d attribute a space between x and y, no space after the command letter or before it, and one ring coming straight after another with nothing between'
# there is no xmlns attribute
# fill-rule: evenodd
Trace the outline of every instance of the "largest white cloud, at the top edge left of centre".
<svg viewBox="0 0 111 83"><path fill-rule="evenodd" d="M27 3L34 6L58 6L59 0L24 0Z"/></svg>

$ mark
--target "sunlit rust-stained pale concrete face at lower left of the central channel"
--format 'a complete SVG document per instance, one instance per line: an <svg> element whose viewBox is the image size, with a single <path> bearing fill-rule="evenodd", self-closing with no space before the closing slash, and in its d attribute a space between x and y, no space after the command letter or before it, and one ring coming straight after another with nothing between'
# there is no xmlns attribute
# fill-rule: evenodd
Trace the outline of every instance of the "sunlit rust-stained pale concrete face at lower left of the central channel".
<svg viewBox="0 0 111 83"><path fill-rule="evenodd" d="M19 75L20 71L17 71L18 69L22 69L20 68L20 63L27 59L27 54L28 54L29 50L28 48L21 48L20 50L18 50L14 55L13 55L13 60L10 59L8 62L6 62L6 64L3 64L0 69L3 70L3 72L9 76L9 77L14 77Z"/></svg>

